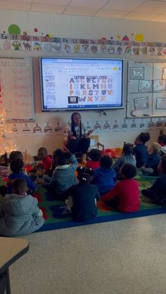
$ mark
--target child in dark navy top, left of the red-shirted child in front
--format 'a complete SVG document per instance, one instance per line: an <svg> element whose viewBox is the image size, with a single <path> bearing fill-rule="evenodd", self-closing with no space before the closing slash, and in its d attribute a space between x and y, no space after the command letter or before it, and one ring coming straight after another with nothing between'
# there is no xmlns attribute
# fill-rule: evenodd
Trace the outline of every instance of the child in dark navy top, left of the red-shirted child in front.
<svg viewBox="0 0 166 294"><path fill-rule="evenodd" d="M65 192L68 196L65 203L75 221L88 222L97 214L96 201L100 199L100 194L95 185L89 184L91 169L77 168L77 171L79 183Z"/></svg>

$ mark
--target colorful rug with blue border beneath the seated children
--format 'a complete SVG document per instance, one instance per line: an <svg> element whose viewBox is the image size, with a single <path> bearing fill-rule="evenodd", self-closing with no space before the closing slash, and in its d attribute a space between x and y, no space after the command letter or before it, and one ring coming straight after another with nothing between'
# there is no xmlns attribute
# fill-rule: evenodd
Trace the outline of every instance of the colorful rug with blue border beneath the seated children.
<svg viewBox="0 0 166 294"><path fill-rule="evenodd" d="M155 177L144 175L136 176L136 180L139 181L140 190L150 187L155 179ZM64 202L55 201L53 196L49 194L49 192L46 192L44 187L39 186L38 192L35 196L39 201L39 207L43 211L45 218L44 226L41 227L41 229L39 229L37 232L166 213L166 207L157 206L151 202L145 201L141 201L141 208L136 213L118 213L117 211L113 211L112 208L106 206L102 201L98 201L98 215L96 218L91 220L91 222L80 223L74 222L70 216L70 213L66 209Z"/></svg>

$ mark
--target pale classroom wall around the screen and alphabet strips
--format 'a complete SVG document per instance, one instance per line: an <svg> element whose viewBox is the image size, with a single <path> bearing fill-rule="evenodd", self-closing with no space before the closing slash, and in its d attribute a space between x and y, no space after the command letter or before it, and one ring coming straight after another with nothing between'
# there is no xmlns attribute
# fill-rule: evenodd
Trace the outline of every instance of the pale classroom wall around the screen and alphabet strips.
<svg viewBox="0 0 166 294"><path fill-rule="evenodd" d="M17 12L17 11L0 11L0 27L1 32L8 32L8 26L17 24L21 33L27 32L30 35L52 34L53 36L83 38L83 39L101 39L105 36L110 39L117 39L117 36L129 36L130 40L134 40L136 34L143 34L145 41L165 41L166 38L166 23L162 22L145 22L133 20L117 20L108 18L90 18L70 15L56 15L48 13L31 13L31 12ZM34 28L38 32L34 34ZM41 112L41 98L40 98L40 84L39 84L39 55L55 56L55 53L44 53L35 51L0 51L1 57L32 57L34 63L34 100L35 100L35 119L39 123L55 122L60 119L63 122L68 122L71 112ZM59 55L58 55L59 56ZM63 54L63 56L70 56ZM84 57L84 55L77 55L77 57ZM89 55L89 57L94 57ZM108 55L98 55L101 58L108 58ZM86 120L103 120L103 119L123 119L126 116L126 98L127 98L127 61L157 61L163 60L164 57L157 58L156 56L134 56L134 55L113 55L111 58L125 59L125 87L124 98L125 108L119 110L106 111L107 116L102 116L100 113L94 111L80 112L82 121ZM105 147L119 147L123 142L134 142L136 135L140 130L127 131L125 133L110 132L99 133L99 141ZM151 130L151 140L156 140L159 130ZM16 138L18 149L30 154L36 154L37 149L45 146L49 149L49 153L57 147L62 147L62 138L60 135L44 135L44 136L18 136Z"/></svg>

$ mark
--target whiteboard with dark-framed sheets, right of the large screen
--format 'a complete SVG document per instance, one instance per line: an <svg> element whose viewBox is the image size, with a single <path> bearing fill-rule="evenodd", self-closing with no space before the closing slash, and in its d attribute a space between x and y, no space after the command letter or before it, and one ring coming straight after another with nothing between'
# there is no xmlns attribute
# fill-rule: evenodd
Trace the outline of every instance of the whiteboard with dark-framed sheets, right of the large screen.
<svg viewBox="0 0 166 294"><path fill-rule="evenodd" d="M128 62L127 117L166 116L166 62Z"/></svg>

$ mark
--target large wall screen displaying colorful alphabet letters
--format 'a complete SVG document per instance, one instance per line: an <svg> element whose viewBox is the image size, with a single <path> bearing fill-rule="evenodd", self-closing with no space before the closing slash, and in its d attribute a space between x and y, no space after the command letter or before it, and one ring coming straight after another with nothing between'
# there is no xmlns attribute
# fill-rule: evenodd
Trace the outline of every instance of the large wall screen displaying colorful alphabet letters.
<svg viewBox="0 0 166 294"><path fill-rule="evenodd" d="M123 60L41 58L43 110L122 108Z"/></svg>

